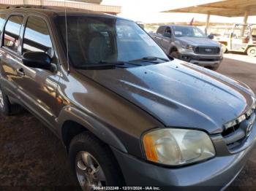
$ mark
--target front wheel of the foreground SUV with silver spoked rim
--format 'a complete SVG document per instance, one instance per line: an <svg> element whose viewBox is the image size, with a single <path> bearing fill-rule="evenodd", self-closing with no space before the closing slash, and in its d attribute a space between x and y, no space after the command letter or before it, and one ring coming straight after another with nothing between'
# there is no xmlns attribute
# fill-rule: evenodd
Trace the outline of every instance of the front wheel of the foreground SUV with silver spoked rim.
<svg viewBox="0 0 256 191"><path fill-rule="evenodd" d="M72 139L69 147L69 164L82 190L90 190L92 186L122 186L124 184L121 170L110 148L90 132L86 131ZM94 174L95 166L99 170ZM90 169L93 171L90 172ZM99 179L95 180L97 183L89 185L89 181L94 182L95 177L94 175L87 177L88 171ZM85 174L87 175L83 176Z"/></svg>

